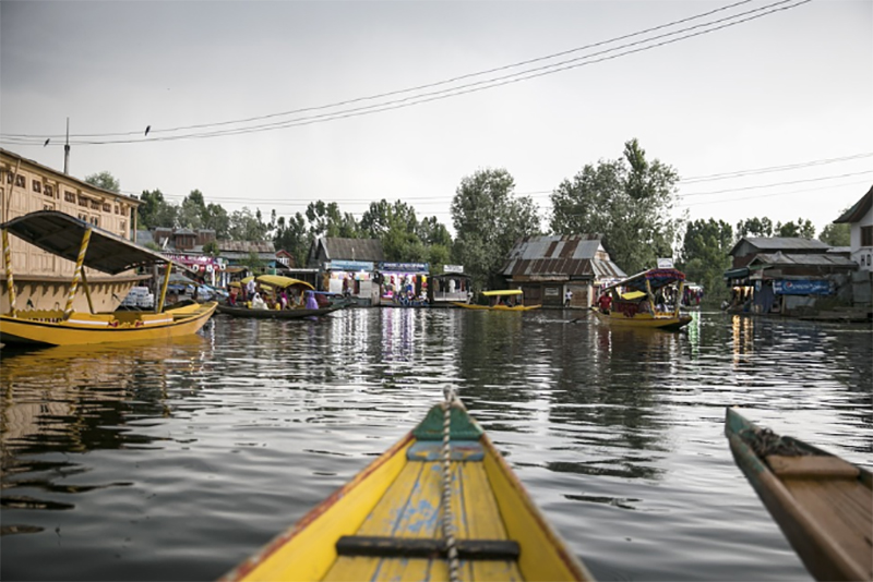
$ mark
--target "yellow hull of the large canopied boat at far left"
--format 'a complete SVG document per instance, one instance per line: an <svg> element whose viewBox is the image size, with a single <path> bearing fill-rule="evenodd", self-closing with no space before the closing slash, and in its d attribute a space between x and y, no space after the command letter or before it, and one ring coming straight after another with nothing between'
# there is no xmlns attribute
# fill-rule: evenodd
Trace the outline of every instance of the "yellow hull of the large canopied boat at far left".
<svg viewBox="0 0 873 582"><path fill-rule="evenodd" d="M196 334L215 312L215 302L167 310L163 313L59 311L0 315L0 342L24 345L82 345L118 341L148 341Z"/></svg>

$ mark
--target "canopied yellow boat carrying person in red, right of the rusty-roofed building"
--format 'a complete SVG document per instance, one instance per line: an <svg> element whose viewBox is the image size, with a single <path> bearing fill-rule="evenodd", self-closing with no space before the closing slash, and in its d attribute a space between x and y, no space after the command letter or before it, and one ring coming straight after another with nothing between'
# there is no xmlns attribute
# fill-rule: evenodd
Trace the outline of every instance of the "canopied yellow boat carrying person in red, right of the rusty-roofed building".
<svg viewBox="0 0 873 582"><path fill-rule="evenodd" d="M679 329L691 322L680 312L685 274L678 269L649 269L603 288L609 310L595 308L597 319L610 325ZM619 290L624 292L620 293ZM672 303L668 303L672 299ZM668 305L673 305L672 308Z"/></svg>

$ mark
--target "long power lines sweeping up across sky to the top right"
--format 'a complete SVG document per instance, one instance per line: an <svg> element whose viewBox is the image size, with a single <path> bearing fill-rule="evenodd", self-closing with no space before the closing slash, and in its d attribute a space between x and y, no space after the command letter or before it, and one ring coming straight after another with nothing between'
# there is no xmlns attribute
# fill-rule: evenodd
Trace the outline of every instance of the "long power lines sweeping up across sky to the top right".
<svg viewBox="0 0 873 582"><path fill-rule="evenodd" d="M645 50L651 50L654 48L666 46L666 45L669 45L669 44L672 44L672 43L677 43L677 41L684 40L684 39L687 39L687 38L693 38L695 36L701 36L701 35L704 35L704 34L709 34L709 33L713 33L713 32L716 32L716 31L719 31L719 29L722 29L722 28L730 27L730 26L736 26L738 24L742 24L744 22L756 20L756 19L763 17L763 16L766 16L768 14L773 14L775 12L780 12L780 11L798 8L798 7L802 5L802 4L809 3L811 0L801 0L801 1L797 2L797 3L790 4L790 2L792 2L792 1L794 1L794 0L780 0L778 2L774 2L774 3L767 4L765 7L753 9L753 10L750 10L750 11L746 11L746 12L733 14L733 15L730 15L730 16L726 16L723 19L710 21L710 22L703 23L703 24L696 24L694 26L681 28L679 31L666 33L666 34L662 34L662 35L657 35L657 36L649 37L649 38L646 38L646 39L643 39L643 40L629 43L629 44L625 44L625 45L621 45L619 47L614 47L614 48L610 48L610 49L607 49L607 50L594 52L594 53L588 54L588 56L577 57L577 58L574 58L574 59L570 59L570 60L557 62L557 63L547 64L545 66L538 66L538 68L534 68L534 69L528 69L526 71L512 73L512 74L503 75L503 76L498 76L498 77L486 80L486 81L478 81L478 82L475 82L475 83L463 84L463 85L459 85L459 86L456 86L456 87L451 87L451 88L447 88L447 89L441 89L441 90L438 90L438 92L424 93L424 94L419 94L419 95L415 95L415 96L411 96L411 97L405 97L405 98L402 98L402 99L390 100L390 101L382 102L382 104L375 104L375 105L370 105L370 106L364 106L364 107L356 107L356 108L347 109L345 111L338 111L338 112L332 112L332 113L322 113L322 114L303 117L303 118L292 119L292 120L283 121L283 122L266 123L266 124L261 124L261 125L253 125L253 126L250 126L250 128L238 128L238 129L230 129L230 130L215 130L215 131L210 131L210 132L189 133L189 134L166 136L166 137L154 137L154 138L148 140L148 141L155 142L155 141L176 141L176 140L186 140L186 138L207 138L207 137L218 137L218 136L225 136L225 135L241 135L241 134L254 133L254 132L273 131L273 130L279 130L279 129L287 129L287 128L291 128L291 126L309 125L309 124L313 124L313 123L323 123L323 122L327 122L327 121L335 121L335 120L338 120L338 119L346 119L346 118L351 118L351 117L359 117L359 116L364 116L364 114L379 113L379 112L384 112L384 111L388 111L388 110L393 110L393 109L411 107L414 105L421 105L421 104L429 102L429 101L441 100L441 99L446 99L446 98L451 98L451 97L457 97L457 96L469 94L469 93L476 93L476 92L479 92L479 90L486 90L486 89L490 89L490 88L494 88L494 87L499 87L499 86L503 86L503 85L507 85L507 84L512 84L512 83L518 83L518 82L522 82L522 81L529 81L529 80L537 78L537 77L545 76L545 75L555 74L555 73L563 72L563 71L566 71L566 70L570 70L570 69L575 69L575 68L578 68L578 66L585 66L585 65L594 64L594 63L597 63L597 62L603 62L603 61L607 61L607 60L617 59L617 58L620 58L620 57L624 57L624 56L627 56L627 54L633 54L633 53L645 51ZM745 2L738 2L736 4L731 4L729 7L725 7L725 9L733 8L733 7L739 5L741 3L745 3ZM789 5L784 5L784 4L789 4ZM722 9L720 9L720 10L722 10ZM711 14L714 12L716 12L716 11L710 11L709 13L706 13L706 14ZM651 28L650 31L659 29L659 28L667 27L667 26L671 26L671 25L674 25L674 24L678 24L678 23L681 23L681 22L687 22L690 20L694 20L694 19L701 17L701 16L702 15L697 15L697 16L694 16L694 17L684 19L682 21L675 21L675 22L669 23L667 25L661 25L659 27ZM748 16L748 17L738 20L739 16ZM733 22L727 22L727 21L733 21ZM720 24L719 26L713 26L714 24L717 24L717 23L723 23L723 24ZM634 47L634 46L637 46L637 45L651 43L653 40L656 40L656 39L659 39L659 38L666 38L666 37L679 35L681 33L686 33L689 31L694 31L696 28L702 28L702 27L707 27L707 26L711 26L711 27L710 28L705 28L703 31L697 31L695 33L687 34L687 35L684 35L684 36L679 36L677 38L667 39L667 40L663 40L661 43L656 43L656 44L653 44L653 45L647 45L647 46L630 49L630 50L626 50L624 52L619 52L619 53L615 53L615 54L607 54L609 52L613 52L613 51L617 51L617 50L620 50L620 49L623 49L623 48L629 48L629 47ZM617 39L598 43L598 44L595 44L595 45L591 45L591 46L600 46L600 45L603 45L603 44L609 44L609 43L615 41L618 39L629 38L631 36L636 36L638 34L643 34L643 32L635 33L633 35L625 35L623 37L618 37ZM574 49L573 51L582 50L583 48L584 47L582 47L579 49ZM562 56L562 54L566 54L566 53L573 52L573 51L564 51L562 53L555 53L554 56ZM599 56L599 54L605 54L605 56L601 57L601 58L591 60L594 57ZM528 62L535 62L537 60L545 60L545 59L553 58L554 56L542 57L540 59L534 59L534 60L530 60L530 61L523 61L522 63L515 63L513 65L506 65L505 68L499 68L499 69L495 69L495 70L491 70L491 72L500 71L500 70L504 70L504 69L510 69L510 68L514 68L514 66L518 66L521 64L528 63ZM579 61L582 61L582 62L579 62ZM466 78L466 77L477 76L477 75L487 74L487 73L488 72L475 73L475 74L470 74L470 75L463 75L462 77L456 77L456 78ZM445 84L445 83L449 83L449 82L451 82L451 81L439 82L439 83L433 83L433 84L429 84L429 85L422 85L422 87L433 87L433 86L442 85L442 84ZM404 89L404 90L399 90L399 92L391 92L391 93L383 94L383 95L384 96L398 95L398 94L408 93L408 92L411 92L411 90L418 90L418 89ZM361 101L361 100L369 100L369 99L374 99L374 98L376 98L376 97L367 97L367 98L360 98L360 99L352 99L352 100L343 101L343 102L344 104L352 104L352 102L358 102L358 101ZM330 107L335 107L335 106L334 105L332 105L332 106L321 106L321 107L318 107L318 108L307 108L304 110L298 110L298 111L312 111L312 110L324 109L324 108L330 108ZM284 114L288 114L288 113L287 112L286 113L277 113L275 116L284 116ZM274 117L274 116L264 116L264 117L261 117L261 118L250 118L250 119L260 120L260 119L266 119L268 117ZM204 124L202 126L204 126L204 128L205 126L218 126L218 125L224 125L224 124L229 124L229 123L239 123L239 121ZM190 126L190 128L195 128L195 126ZM196 126L196 128L201 128L201 126ZM167 130L167 131L169 131L169 130ZM157 133L157 132L158 131L155 130L153 133ZM121 134L121 135L130 135L131 133ZM98 134L98 135L100 135L100 134ZM116 134L104 134L104 135L116 135ZM43 143L43 140L45 138L45 136L40 135L40 136L36 136L35 137L35 136L31 136L31 135L26 135L26 134L22 134L22 135L9 134L7 136L7 138L9 141L13 142L13 143L20 143L20 144L34 143L34 144L36 144L36 143ZM142 142L142 140L137 138L137 140L108 140L108 141L74 141L73 143L75 143L77 145L106 145L106 144L141 143L141 142Z"/></svg>

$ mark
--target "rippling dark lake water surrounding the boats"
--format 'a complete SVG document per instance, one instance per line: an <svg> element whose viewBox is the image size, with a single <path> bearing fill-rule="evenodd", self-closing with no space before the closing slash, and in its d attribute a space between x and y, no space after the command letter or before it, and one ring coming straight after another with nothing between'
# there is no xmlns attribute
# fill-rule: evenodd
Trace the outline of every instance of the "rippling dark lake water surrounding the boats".
<svg viewBox="0 0 873 582"><path fill-rule="evenodd" d="M733 462L725 407L871 466L872 352L869 326L400 308L4 350L0 577L216 579L452 385L598 579L811 580Z"/></svg>

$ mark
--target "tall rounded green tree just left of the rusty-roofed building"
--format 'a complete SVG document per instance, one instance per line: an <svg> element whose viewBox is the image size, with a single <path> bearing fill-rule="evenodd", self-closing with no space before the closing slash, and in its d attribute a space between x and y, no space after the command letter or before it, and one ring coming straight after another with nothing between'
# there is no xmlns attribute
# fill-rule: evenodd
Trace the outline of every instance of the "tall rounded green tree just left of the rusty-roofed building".
<svg viewBox="0 0 873 582"><path fill-rule="evenodd" d="M505 169L485 169L462 179L452 199L454 256L478 289L498 286L515 241L539 233L537 206L529 196L515 197L514 190Z"/></svg>

